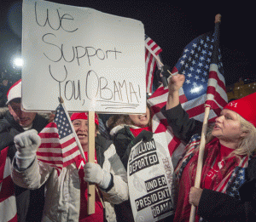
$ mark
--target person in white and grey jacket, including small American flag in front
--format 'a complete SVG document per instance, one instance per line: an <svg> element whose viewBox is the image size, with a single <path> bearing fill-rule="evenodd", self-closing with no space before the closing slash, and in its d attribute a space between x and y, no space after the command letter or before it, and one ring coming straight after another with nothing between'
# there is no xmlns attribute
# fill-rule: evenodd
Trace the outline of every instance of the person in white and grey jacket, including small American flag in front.
<svg viewBox="0 0 256 222"><path fill-rule="evenodd" d="M96 131L98 124L95 117ZM39 134L41 138L32 130L15 137L12 178L30 189L46 185L43 221L100 222L103 214L107 221L116 221L113 204L128 199L126 171L111 141L96 134L96 163L85 163L81 157L74 137L87 158L88 133L87 113L69 117L59 105L55 121ZM86 213L87 182L98 185L103 196L103 202L96 196L96 213L90 215Z"/></svg>

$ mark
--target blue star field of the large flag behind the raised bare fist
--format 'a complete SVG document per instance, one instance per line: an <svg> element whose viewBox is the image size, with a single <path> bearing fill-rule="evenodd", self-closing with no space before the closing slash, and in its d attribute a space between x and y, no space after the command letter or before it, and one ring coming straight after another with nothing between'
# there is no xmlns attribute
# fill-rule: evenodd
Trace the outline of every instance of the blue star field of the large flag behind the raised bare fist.
<svg viewBox="0 0 256 222"><path fill-rule="evenodd" d="M182 57L175 65L178 73L186 78L183 84L183 91L187 100L193 100L202 94L207 94L207 81L213 43L215 37L211 33L206 33L196 37L183 50ZM218 70L223 74L223 64L218 48Z"/></svg>

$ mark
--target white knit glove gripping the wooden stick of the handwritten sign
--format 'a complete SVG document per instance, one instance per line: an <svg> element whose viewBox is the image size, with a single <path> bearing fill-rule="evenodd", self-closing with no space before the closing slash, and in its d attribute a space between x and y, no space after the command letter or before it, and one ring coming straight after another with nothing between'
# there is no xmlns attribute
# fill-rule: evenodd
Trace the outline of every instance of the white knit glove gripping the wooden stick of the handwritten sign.
<svg viewBox="0 0 256 222"><path fill-rule="evenodd" d="M103 170L99 164L87 162L84 165L84 181L97 184L106 190L110 185L111 175Z"/></svg>

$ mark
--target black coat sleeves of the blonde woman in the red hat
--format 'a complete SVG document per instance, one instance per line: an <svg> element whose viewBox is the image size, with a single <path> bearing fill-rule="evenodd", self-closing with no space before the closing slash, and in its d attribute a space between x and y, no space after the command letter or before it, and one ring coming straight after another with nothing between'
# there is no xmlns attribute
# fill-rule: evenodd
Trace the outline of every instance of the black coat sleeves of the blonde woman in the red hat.
<svg viewBox="0 0 256 222"><path fill-rule="evenodd" d="M186 142L193 134L201 134L202 122L189 119L189 115L179 104L162 113L172 127L173 133ZM246 181L241 185L239 194L241 200L227 194L203 189L198 206L198 214L207 221L256 221L256 158L248 163Z"/></svg>

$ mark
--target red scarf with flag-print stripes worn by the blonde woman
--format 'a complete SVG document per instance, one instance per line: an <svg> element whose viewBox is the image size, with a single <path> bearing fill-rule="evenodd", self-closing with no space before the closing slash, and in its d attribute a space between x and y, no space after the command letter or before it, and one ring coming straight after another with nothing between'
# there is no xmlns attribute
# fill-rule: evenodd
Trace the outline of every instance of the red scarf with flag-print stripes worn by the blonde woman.
<svg viewBox="0 0 256 222"><path fill-rule="evenodd" d="M189 204L189 191L195 185L195 174L199 151L196 149L200 141L190 143L186 147L186 154L178 163L175 173L177 174L178 195L174 221L189 221L191 205ZM212 168L216 157L220 151L219 139L214 138L205 147L203 168L201 174L201 188L205 188L207 173ZM237 166L247 167L248 157L239 160L237 157L226 159L224 168L221 168L212 178L212 183L207 184L207 189L225 193L226 184L230 179L233 170ZM200 216L195 216L195 221L199 221Z"/></svg>

